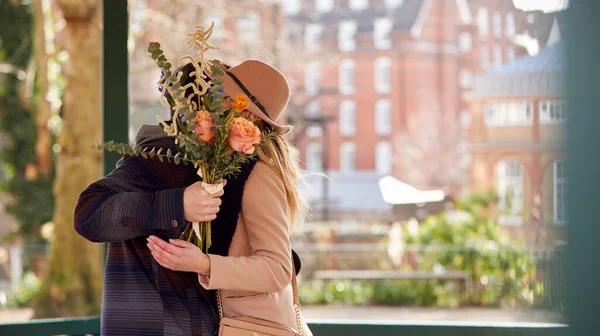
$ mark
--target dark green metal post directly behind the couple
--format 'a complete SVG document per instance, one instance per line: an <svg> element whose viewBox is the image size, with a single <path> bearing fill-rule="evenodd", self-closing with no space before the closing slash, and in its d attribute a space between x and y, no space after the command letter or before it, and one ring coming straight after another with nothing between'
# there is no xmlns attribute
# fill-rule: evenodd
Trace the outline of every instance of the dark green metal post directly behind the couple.
<svg viewBox="0 0 600 336"><path fill-rule="evenodd" d="M128 142L129 95L127 36L129 20L127 1L103 1L102 106L105 140ZM110 173L119 160L117 153L104 152L104 174ZM105 255L107 245L105 244Z"/></svg>

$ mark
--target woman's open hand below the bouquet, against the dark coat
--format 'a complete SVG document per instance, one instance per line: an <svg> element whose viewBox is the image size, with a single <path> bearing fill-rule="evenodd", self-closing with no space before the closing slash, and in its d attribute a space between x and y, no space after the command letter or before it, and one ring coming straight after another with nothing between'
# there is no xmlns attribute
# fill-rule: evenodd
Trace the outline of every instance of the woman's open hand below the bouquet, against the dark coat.
<svg viewBox="0 0 600 336"><path fill-rule="evenodd" d="M210 273L210 259L196 245L181 239L169 242L148 237L148 248L154 259L163 267L173 271Z"/></svg>

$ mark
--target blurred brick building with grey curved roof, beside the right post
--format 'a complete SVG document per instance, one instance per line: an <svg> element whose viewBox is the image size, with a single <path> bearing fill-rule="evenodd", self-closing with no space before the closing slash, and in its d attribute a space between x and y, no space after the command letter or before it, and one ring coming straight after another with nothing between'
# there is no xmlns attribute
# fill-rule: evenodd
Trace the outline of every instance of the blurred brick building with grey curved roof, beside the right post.
<svg viewBox="0 0 600 336"><path fill-rule="evenodd" d="M564 52L556 42L481 75L470 100L469 186L497 190L501 224L529 244L560 239L566 220Z"/></svg>

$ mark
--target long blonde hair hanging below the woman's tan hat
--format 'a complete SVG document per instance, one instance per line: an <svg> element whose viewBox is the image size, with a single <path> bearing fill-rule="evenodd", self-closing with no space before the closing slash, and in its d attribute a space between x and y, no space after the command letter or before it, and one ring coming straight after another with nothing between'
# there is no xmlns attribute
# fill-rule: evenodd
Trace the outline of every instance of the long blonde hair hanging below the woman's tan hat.
<svg viewBox="0 0 600 336"><path fill-rule="evenodd" d="M262 120L257 124L261 131L265 130ZM298 182L303 176L299 164L300 152L281 135L270 137L257 152L260 160L283 180L291 224L302 223L308 213L308 204L298 188Z"/></svg>

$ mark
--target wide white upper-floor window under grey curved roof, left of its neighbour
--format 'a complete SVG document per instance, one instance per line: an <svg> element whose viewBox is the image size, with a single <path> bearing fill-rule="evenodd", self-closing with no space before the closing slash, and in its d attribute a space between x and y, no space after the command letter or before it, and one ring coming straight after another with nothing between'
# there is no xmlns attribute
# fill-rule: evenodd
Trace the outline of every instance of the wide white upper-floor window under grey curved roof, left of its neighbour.
<svg viewBox="0 0 600 336"><path fill-rule="evenodd" d="M487 126L530 126L533 103L530 101L489 102L485 105Z"/></svg>

